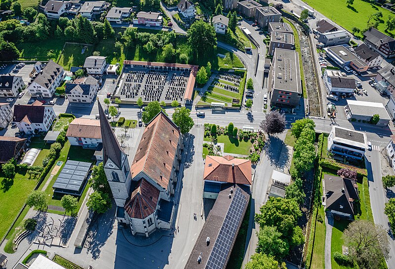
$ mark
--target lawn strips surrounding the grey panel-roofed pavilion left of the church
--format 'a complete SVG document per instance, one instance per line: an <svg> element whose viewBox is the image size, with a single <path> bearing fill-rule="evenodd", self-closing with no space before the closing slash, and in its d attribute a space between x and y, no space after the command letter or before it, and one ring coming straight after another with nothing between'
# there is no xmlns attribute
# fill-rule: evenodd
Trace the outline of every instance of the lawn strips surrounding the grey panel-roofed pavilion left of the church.
<svg viewBox="0 0 395 269"><path fill-rule="evenodd" d="M56 163L58 161L62 161L63 164L62 164L61 168L59 169L59 171L52 177L51 182L48 184L48 187L45 190L45 193L48 195L48 204L62 206L60 203L60 200L62 199L63 195L54 193L52 185L55 183L55 181L56 181L57 177L59 176L62 168L64 167L66 161L73 160L73 161L79 161L79 162L93 162L92 157L93 157L94 152L95 152L95 150L92 150L92 149L82 149L79 146L71 146L69 141L67 141L65 143L62 151L60 152L59 158L58 158L58 160L56 160L52 169L56 166ZM84 200L84 198L86 196L86 192L87 192L88 188L89 188L89 186L86 186L82 195L79 197L77 212L82 204L82 201ZM48 212L58 213L58 214L64 213L62 211L55 211L55 210L48 210Z"/></svg>

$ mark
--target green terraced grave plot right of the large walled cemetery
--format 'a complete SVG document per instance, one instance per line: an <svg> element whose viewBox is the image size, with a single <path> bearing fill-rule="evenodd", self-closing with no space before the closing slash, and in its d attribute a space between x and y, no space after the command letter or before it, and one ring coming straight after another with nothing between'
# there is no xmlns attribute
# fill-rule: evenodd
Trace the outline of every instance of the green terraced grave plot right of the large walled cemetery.
<svg viewBox="0 0 395 269"><path fill-rule="evenodd" d="M217 74L199 104L210 104L211 102L223 102L226 106L238 104L240 102L240 81L241 76L236 74Z"/></svg>

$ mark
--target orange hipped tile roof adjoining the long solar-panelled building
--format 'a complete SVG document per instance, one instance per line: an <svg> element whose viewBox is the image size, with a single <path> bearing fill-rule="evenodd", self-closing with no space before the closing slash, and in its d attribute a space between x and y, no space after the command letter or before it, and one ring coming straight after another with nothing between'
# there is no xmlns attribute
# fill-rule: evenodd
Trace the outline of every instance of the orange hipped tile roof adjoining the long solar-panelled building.
<svg viewBox="0 0 395 269"><path fill-rule="evenodd" d="M251 185L251 160L236 159L229 155L207 155L203 179Z"/></svg>

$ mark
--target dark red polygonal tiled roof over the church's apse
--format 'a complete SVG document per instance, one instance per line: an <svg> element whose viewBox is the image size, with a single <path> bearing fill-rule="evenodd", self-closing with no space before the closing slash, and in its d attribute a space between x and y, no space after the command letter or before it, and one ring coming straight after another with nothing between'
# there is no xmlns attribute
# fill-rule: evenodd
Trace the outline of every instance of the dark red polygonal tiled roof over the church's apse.
<svg viewBox="0 0 395 269"><path fill-rule="evenodd" d="M125 203L125 211L131 218L145 219L155 212L159 190L144 178L137 182L131 198Z"/></svg>

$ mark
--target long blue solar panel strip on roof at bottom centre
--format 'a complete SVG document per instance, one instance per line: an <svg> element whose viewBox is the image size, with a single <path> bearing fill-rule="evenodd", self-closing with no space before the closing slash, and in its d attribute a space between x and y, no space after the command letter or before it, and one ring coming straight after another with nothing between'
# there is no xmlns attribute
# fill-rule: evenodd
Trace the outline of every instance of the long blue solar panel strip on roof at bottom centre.
<svg viewBox="0 0 395 269"><path fill-rule="evenodd" d="M241 222L246 203L245 195L237 188L213 250L208 258L206 269L223 269L225 267L226 258L235 239L237 227Z"/></svg>

